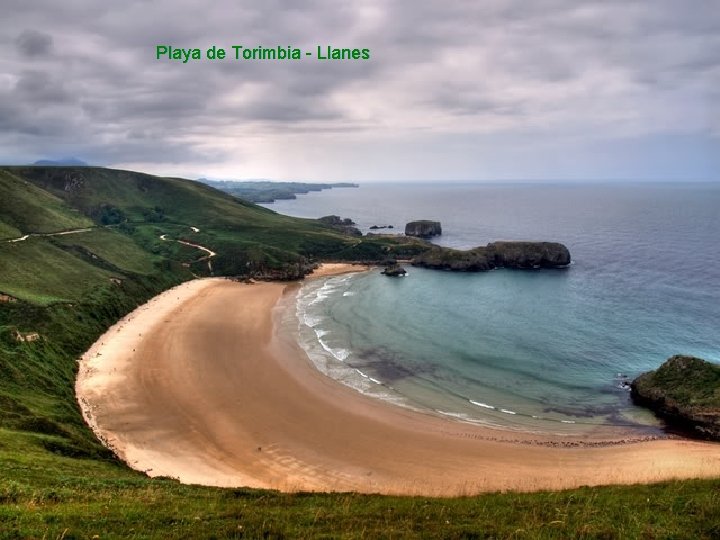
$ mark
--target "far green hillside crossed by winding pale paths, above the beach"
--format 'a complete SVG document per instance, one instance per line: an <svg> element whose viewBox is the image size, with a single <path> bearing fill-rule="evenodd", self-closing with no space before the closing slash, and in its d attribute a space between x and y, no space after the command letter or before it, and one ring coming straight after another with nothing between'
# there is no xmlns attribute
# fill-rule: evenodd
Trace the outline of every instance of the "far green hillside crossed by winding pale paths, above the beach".
<svg viewBox="0 0 720 540"><path fill-rule="evenodd" d="M316 220L279 215L204 184L94 167L0 169L0 292L35 303L67 301L111 277L175 268L208 275L198 249L217 253L216 275L300 277L323 257L376 260L417 249L350 238ZM92 228L76 234L62 231ZM165 235L165 240L161 236ZM38 271L45 269L46 271Z"/></svg>

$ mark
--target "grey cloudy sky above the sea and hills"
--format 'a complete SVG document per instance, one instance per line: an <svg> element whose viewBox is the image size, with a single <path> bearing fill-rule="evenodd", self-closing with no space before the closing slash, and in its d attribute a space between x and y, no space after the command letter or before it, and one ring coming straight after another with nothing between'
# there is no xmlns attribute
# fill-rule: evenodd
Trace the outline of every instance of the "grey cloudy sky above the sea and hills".
<svg viewBox="0 0 720 540"><path fill-rule="evenodd" d="M720 0L3 0L0 162L720 180ZM370 49L157 60L157 45Z"/></svg>

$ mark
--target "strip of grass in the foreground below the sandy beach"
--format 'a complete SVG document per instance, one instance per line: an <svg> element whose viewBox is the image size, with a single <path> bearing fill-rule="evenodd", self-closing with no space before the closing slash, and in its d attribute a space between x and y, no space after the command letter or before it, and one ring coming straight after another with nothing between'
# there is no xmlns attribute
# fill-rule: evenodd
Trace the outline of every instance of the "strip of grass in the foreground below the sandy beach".
<svg viewBox="0 0 720 540"><path fill-rule="evenodd" d="M720 481L433 499L151 480L0 430L0 538L718 538Z"/></svg>

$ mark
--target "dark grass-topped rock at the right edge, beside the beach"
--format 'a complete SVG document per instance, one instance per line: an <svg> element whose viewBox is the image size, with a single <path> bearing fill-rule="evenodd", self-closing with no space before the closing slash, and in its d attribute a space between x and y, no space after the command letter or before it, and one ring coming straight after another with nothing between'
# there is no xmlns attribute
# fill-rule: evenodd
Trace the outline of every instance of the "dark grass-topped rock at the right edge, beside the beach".
<svg viewBox="0 0 720 540"><path fill-rule="evenodd" d="M675 355L630 385L633 401L651 409L669 427L720 440L720 365Z"/></svg>

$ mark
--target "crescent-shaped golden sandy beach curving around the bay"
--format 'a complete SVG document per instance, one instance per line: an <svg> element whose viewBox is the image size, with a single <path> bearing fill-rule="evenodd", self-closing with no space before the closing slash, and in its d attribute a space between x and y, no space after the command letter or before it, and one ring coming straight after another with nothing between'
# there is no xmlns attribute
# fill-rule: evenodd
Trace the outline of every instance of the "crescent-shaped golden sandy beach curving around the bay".
<svg viewBox="0 0 720 540"><path fill-rule="evenodd" d="M86 420L131 467L217 486L458 495L720 476L718 444L565 447L363 396L277 335L296 287L196 280L138 308L81 359Z"/></svg>

